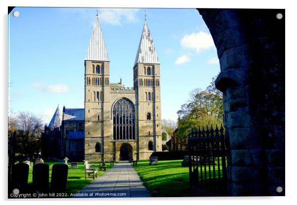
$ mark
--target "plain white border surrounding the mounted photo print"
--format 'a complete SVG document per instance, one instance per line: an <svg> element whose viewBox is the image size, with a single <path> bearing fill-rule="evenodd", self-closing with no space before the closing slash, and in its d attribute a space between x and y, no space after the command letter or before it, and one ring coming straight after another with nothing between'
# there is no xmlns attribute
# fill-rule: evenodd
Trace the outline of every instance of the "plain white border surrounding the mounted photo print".
<svg viewBox="0 0 297 205"><path fill-rule="evenodd" d="M296 203L296 132L293 134L293 129L296 127L296 5L294 1L281 1L281 0L179 0L179 1L165 1L165 0L6 0L1 1L1 117L0 117L0 130L2 131L2 165L7 162L7 49L8 49L8 19L7 19L7 6L49 6L49 7L164 7L164 8L285 8L286 9L286 197L239 197L239 198L151 198L151 199L57 199L54 201L62 201L62 203L71 203L81 205L86 203L104 203L104 204L119 204L129 203L151 205L156 202L166 203L170 201L170 204L184 204L184 203L203 203L203 204L236 204L250 205L254 203L269 203L269 205L293 204ZM289 112L288 112L289 111ZM2 186L0 188L1 200L5 201L7 197L7 169L6 166L2 166L0 169L0 175L2 176ZM295 182L295 183L294 183ZM178 188L178 187L177 187ZM12 201L12 200L10 200ZM15 200L13 200L15 201ZM16 200L18 203L32 204L32 203L55 203L53 200ZM63 202L71 201L71 202ZM100 201L100 202L94 202ZM185 202L186 201L186 202ZM195 201L195 202L193 202ZM7 203L4 202L5 204Z"/></svg>

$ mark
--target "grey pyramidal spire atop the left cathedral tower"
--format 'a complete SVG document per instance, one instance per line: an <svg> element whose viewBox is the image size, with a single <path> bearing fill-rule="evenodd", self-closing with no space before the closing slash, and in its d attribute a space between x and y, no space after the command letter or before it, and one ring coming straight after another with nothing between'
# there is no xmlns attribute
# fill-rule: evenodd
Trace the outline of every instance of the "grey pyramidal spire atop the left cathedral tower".
<svg viewBox="0 0 297 205"><path fill-rule="evenodd" d="M98 15L96 16L96 21L85 61L110 61L107 55L107 49L101 31Z"/></svg>

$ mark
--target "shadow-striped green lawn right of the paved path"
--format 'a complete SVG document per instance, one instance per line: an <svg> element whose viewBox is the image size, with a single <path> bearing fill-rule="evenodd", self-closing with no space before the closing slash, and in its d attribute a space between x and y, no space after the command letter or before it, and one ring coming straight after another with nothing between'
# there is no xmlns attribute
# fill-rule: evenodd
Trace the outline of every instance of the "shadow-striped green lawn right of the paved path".
<svg viewBox="0 0 297 205"><path fill-rule="evenodd" d="M191 197L189 193L189 168L182 167L183 160L138 161L134 166L152 197Z"/></svg>

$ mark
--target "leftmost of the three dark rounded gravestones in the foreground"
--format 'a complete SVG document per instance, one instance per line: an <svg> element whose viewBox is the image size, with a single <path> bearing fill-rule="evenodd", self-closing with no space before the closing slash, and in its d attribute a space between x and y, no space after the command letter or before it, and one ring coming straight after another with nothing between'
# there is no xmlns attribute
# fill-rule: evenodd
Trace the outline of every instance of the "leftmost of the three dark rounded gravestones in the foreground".
<svg viewBox="0 0 297 205"><path fill-rule="evenodd" d="M29 165L18 163L12 167L12 189L24 190L28 185Z"/></svg>

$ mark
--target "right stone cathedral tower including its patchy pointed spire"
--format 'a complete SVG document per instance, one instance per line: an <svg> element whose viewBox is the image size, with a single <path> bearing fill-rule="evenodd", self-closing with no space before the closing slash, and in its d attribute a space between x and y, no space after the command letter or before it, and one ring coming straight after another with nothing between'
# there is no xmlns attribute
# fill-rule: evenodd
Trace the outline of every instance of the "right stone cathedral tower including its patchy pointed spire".
<svg viewBox="0 0 297 205"><path fill-rule="evenodd" d="M162 118L160 62L146 20L133 71L138 107L139 159L148 159L151 153L148 153L147 150L162 151Z"/></svg>

